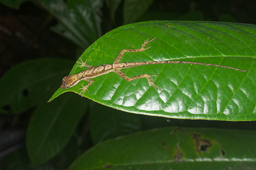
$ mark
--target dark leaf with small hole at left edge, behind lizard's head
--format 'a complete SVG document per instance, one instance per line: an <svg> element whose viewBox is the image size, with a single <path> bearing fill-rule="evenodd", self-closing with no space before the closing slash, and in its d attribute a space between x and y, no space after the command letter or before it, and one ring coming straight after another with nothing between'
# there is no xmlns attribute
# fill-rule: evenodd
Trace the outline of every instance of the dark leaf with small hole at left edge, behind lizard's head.
<svg viewBox="0 0 256 170"><path fill-rule="evenodd" d="M0 79L0 107L9 105L12 113L22 113L47 102L61 85L59 79L70 72L72 63L71 60L54 58L19 63Z"/></svg>

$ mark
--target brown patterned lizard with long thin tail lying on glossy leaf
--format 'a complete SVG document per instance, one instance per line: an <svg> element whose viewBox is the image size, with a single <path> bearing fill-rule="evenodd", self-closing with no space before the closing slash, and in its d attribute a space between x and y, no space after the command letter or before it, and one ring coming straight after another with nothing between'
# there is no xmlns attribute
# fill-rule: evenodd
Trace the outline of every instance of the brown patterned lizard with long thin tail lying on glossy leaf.
<svg viewBox="0 0 256 170"><path fill-rule="evenodd" d="M82 61L81 58L80 61L78 62L80 65L78 65L78 67L82 68L82 67L87 67L84 71L81 71L80 73L77 74L71 74L69 76L66 76L62 79L62 85L61 88L62 89L67 89L67 88L71 88L74 85L76 85L78 82L80 82L81 80L85 80L88 81L89 83L87 85L83 85L82 84L82 88L79 88L79 90L81 90L81 92L79 93L79 95L83 96L84 92L88 91L88 87L90 85L93 84L93 79L95 77L99 77L101 75L104 74L108 74L110 72L115 72L117 75L119 75L120 77L122 77L123 79L125 79L126 81L130 82L132 80L135 79L140 79L140 78L147 78L148 82L156 89L158 88L161 92L162 90L156 85L154 84L154 82L150 79L150 77L154 77L157 75L148 75L148 74L141 74L135 77L128 77L126 76L121 69L124 68L131 68L131 67L137 67L140 65L151 65L151 64L165 64L165 63L183 63L183 64L198 64L198 65L210 65L210 66L216 66L216 67L222 67L222 68L230 68L230 69L234 69L237 71L246 71L246 70L241 70L238 68L233 68L233 67L228 67L228 66L223 66L223 65L216 65L216 64L207 64L207 63L201 63L201 62L189 62L189 61L171 61L171 60L167 60L167 61L151 61L151 62L120 62L120 60L122 59L122 56L125 52L139 52L139 51L144 51L148 48L150 48L151 46L145 48L145 46L147 45L147 43L153 41L156 37L154 37L152 40L148 41L147 40L144 41L144 43L142 44L140 49L122 49L120 51L120 53L118 54L118 56L116 57L116 59L114 60L113 64L103 64L103 65L97 65L97 66L92 66L92 65L87 65L86 61L85 62Z"/></svg>

